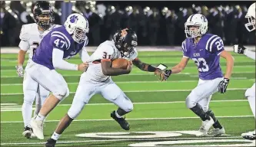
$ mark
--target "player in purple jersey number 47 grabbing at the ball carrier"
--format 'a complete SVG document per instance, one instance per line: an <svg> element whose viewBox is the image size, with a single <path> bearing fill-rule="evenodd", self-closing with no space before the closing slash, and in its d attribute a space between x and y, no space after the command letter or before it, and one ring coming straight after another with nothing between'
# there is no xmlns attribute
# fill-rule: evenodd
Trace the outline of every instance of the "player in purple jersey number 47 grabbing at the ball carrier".
<svg viewBox="0 0 256 147"><path fill-rule="evenodd" d="M38 83L52 92L43 103L37 116L32 118L31 126L38 139L44 139L43 121L62 100L69 95L68 84L60 73L55 69L85 71L88 56L85 46L88 44L88 21L80 14L71 14L65 21L64 26L53 28L42 39L41 44L35 50L31 62L28 63L26 73L32 77L30 92L35 94ZM70 64L69 59L75 54L80 54L81 64Z"/></svg>

